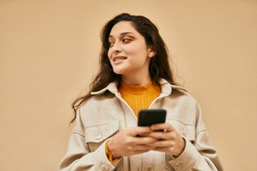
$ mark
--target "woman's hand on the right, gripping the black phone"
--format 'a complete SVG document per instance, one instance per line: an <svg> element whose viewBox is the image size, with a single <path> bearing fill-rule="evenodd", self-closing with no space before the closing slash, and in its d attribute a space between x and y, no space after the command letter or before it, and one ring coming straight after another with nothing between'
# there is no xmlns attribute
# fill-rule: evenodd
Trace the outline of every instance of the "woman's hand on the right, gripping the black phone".
<svg viewBox="0 0 257 171"><path fill-rule="evenodd" d="M186 142L171 124L154 124L151 125L150 129L152 132L143 134L143 136L158 139L158 141L154 141L148 144L153 147L153 150L166 152L173 155L174 157L181 155L185 148Z"/></svg>

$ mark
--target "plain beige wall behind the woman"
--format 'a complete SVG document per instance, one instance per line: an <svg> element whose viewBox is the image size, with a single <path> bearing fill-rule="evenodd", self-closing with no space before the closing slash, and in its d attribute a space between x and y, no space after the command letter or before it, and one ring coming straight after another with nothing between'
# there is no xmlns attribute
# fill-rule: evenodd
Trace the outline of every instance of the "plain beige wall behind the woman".
<svg viewBox="0 0 257 171"><path fill-rule="evenodd" d="M1 0L0 170L58 170L100 28L121 12L160 28L226 170L256 170L256 0Z"/></svg>

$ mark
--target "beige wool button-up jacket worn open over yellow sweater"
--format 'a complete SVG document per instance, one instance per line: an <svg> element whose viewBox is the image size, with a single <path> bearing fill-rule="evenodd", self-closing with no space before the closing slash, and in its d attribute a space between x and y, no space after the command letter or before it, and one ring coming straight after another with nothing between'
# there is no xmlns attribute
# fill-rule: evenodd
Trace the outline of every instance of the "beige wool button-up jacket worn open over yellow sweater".
<svg viewBox="0 0 257 171"><path fill-rule="evenodd" d="M223 170L216 150L203 123L198 102L186 89L161 81L161 95L149 108L167 110L171 123L186 140L183 153L173 158L164 152L149 151L121 157L115 163L106 157L106 140L128 127L137 126L137 118L121 98L116 83L92 92L94 95L76 115L69 147L61 160L60 170Z"/></svg>

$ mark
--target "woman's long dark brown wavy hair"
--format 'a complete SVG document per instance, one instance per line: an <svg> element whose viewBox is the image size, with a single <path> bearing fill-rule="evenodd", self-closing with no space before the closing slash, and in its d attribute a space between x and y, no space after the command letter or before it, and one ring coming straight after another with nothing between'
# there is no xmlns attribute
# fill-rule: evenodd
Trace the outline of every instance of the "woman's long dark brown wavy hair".
<svg viewBox="0 0 257 171"><path fill-rule="evenodd" d="M141 33L141 35L145 38L146 46L151 46L151 50L156 53L156 55L151 58L149 66L149 72L153 83L160 86L159 80L164 78L169 83L177 85L173 79L173 73L168 59L168 48L164 43L163 38L161 38L160 34L158 33L158 28L144 16L133 16L125 13L119 14L118 16L115 16L114 19L108 21L101 31L102 46L99 56L99 72L94 77L94 81L91 82L89 92L86 95L77 98L74 100L74 103L72 103L72 108L74 109L75 115L71 120L71 123L73 123L76 119L76 110L81 107L86 100L91 98L92 91L101 90L102 88L108 86L109 83L113 81L119 82L121 80L121 76L114 73L108 57L110 46L109 35L111 29L120 21L131 22L136 31Z"/></svg>

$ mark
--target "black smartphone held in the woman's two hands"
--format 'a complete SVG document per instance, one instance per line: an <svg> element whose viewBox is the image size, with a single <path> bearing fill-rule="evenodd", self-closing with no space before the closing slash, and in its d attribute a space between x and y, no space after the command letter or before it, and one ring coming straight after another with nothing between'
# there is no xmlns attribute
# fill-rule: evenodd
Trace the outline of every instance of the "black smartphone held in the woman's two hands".
<svg viewBox="0 0 257 171"><path fill-rule="evenodd" d="M165 109L143 109L139 111L138 126L150 126L155 123L165 123Z"/></svg>

